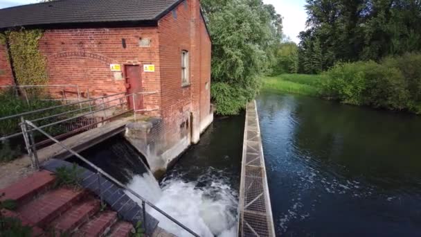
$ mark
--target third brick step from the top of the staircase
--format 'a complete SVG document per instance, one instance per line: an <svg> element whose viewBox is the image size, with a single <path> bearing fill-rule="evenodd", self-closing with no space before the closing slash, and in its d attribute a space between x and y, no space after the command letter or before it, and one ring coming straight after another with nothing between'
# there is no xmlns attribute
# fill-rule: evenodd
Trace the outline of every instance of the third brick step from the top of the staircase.
<svg viewBox="0 0 421 237"><path fill-rule="evenodd" d="M100 201L88 197L75 204L49 226L55 229L57 234L71 234L76 228L88 222L98 211L100 211Z"/></svg>

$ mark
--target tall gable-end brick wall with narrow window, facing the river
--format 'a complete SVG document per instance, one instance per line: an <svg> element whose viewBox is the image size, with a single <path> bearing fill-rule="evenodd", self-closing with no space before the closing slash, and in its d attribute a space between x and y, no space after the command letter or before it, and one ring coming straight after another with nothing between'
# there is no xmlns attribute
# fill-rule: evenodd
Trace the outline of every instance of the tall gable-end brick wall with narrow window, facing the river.
<svg viewBox="0 0 421 237"><path fill-rule="evenodd" d="M170 130L167 140L179 141L179 134L194 126L192 141L197 142L201 114L209 114L210 89L206 90L205 84L211 78L211 41L200 18L198 0L184 1L159 21L159 42L161 106L165 128ZM190 85L186 87L181 85L183 50L189 52Z"/></svg>

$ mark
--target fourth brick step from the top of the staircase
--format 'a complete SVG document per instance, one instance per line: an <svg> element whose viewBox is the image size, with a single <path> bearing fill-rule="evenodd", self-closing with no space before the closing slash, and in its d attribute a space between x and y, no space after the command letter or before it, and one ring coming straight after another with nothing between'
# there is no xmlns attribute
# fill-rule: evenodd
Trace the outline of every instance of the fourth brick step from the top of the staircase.
<svg viewBox="0 0 421 237"><path fill-rule="evenodd" d="M117 213L115 211L103 211L80 227L73 236L105 236L111 226L117 221Z"/></svg>

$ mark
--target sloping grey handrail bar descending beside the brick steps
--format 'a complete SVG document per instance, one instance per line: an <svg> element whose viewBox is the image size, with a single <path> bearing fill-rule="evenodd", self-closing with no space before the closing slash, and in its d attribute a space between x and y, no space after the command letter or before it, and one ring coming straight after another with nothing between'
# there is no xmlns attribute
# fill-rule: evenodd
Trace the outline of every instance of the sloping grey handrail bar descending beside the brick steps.
<svg viewBox="0 0 421 237"><path fill-rule="evenodd" d="M175 224L177 224L179 227L183 228L184 230L188 231L188 233L192 234L192 236L196 236L196 237L200 237L198 234L196 234L194 231L192 231L191 229L189 229L188 227L186 227L185 225L181 224L181 222L179 222L178 220L175 220L174 218L172 218L170 215L168 215L167 213L165 213L165 211L162 211L161 209L159 209L158 207L156 207L154 204L152 204L151 202L147 201L145 198L143 198L141 195L138 195L138 193L136 193L135 191L133 191L131 188L127 187L125 184L120 183L117 179L114 179L114 177L112 177L111 175L109 175L108 173L106 173L104 170L102 170L101 168L99 168L98 166L96 166L95 164L92 164L91 161L85 159L84 157L82 157L81 155L78 154L78 152L75 152L74 150L72 150L71 148L68 148L66 145L64 145L63 143L61 143L60 141L58 141L57 139L55 139L54 137L52 137L50 134L46 133L44 130L42 130L41 128L38 128L36 125L34 125L33 123L31 123L30 121L26 120L24 121L24 123L26 125L29 125L30 127L32 127L33 129L37 130L38 132L41 132L42 134L44 134L44 136L48 137L48 139L51 139L51 141L54 141L55 143L57 143L59 146L61 146L62 148L64 148L65 150L71 152L72 155L74 155L75 157L78 157L80 160L82 160L84 163L88 164L89 166L91 166L93 169L95 169L98 173L100 173L101 175L104 175L105 177L107 177L108 179L110 179L112 182L114 182L115 184L117 184L118 186L120 186L120 188L124 188L125 190L129 191L129 193L132 193L132 195L134 195L136 198L138 198L139 200L142 201L142 206L143 206L143 212L145 211L145 204L149 205L150 207L152 207L155 211L158 211L159 213L161 213L163 216L165 216L166 218L170 219L172 222L174 222ZM36 152L36 151L35 151ZM145 220L145 217L144 217Z"/></svg>

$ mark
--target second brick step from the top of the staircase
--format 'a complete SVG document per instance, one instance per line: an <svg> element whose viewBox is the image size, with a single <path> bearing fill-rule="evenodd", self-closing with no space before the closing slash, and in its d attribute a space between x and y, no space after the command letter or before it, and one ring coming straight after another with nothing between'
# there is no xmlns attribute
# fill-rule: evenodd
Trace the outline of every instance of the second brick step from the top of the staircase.
<svg viewBox="0 0 421 237"><path fill-rule="evenodd" d="M38 227L45 227L84 197L84 191L58 188L48 191L36 200L19 207L17 212Z"/></svg>

